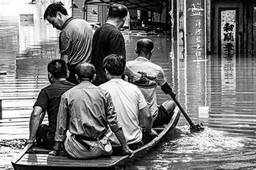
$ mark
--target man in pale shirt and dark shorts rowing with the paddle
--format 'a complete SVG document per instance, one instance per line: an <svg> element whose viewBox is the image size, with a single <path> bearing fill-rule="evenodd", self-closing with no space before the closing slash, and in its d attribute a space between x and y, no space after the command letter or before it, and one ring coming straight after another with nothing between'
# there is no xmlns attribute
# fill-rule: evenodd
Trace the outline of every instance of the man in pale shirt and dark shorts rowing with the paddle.
<svg viewBox="0 0 256 170"><path fill-rule="evenodd" d="M137 48L135 49L138 57L133 61L127 62L127 67L129 67L134 72L144 72L147 75L155 76L155 81L161 87L162 91L165 94L170 95L172 94L172 89L166 81L163 69L150 61L154 50L153 48L154 44L150 39L144 38L138 40ZM175 103L171 100L165 101L160 106L157 106L156 87L148 89L140 88L140 90L150 107L150 111L154 120L153 126L159 126L168 123L172 118L174 109L175 111L179 111L177 107L175 108Z"/></svg>

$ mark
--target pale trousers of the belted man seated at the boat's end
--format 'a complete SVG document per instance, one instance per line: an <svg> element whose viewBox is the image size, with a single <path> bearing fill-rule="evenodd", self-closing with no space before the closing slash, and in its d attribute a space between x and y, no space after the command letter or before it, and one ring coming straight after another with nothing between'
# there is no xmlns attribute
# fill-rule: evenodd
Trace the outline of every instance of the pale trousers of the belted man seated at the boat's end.
<svg viewBox="0 0 256 170"><path fill-rule="evenodd" d="M85 147L78 142L75 139L74 134L68 136L64 141L64 147L68 155L74 159L90 159L106 157L112 154L112 148L109 152L104 150L105 145L110 145L106 136L98 141L83 140L83 142L87 143L90 149L87 149L88 147Z"/></svg>

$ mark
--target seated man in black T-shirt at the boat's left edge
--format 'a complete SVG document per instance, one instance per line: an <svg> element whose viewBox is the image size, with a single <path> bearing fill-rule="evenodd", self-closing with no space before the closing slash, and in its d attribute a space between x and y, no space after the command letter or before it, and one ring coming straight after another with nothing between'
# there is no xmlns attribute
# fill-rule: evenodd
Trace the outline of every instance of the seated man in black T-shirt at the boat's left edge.
<svg viewBox="0 0 256 170"><path fill-rule="evenodd" d="M29 139L25 144L36 142L38 146L52 150L61 95L75 85L66 80L69 71L65 61L53 60L48 64L47 70L51 85L40 91L33 106L29 122ZM48 114L49 125L40 125L40 120L42 121L44 117L41 114L45 110Z"/></svg>

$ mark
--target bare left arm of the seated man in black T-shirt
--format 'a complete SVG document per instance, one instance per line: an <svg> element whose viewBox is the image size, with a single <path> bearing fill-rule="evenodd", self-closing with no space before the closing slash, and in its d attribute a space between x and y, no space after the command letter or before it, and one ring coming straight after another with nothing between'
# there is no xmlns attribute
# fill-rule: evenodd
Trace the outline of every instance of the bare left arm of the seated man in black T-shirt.
<svg viewBox="0 0 256 170"><path fill-rule="evenodd" d="M40 115L43 112L43 109L40 106L34 106L34 109L30 116L29 121L29 140L35 140L35 135L40 124Z"/></svg>

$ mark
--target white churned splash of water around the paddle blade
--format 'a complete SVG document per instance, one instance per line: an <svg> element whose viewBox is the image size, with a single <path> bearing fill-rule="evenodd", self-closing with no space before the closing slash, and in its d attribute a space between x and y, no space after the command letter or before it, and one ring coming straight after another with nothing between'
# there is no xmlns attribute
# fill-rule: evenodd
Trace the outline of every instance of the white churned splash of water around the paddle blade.
<svg viewBox="0 0 256 170"><path fill-rule="evenodd" d="M205 127L200 133L190 133L187 126L180 127L180 138L164 144L163 153L213 153L239 149L244 146L242 137L231 137L225 131Z"/></svg>

